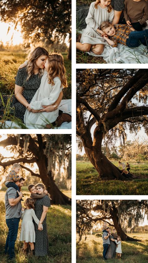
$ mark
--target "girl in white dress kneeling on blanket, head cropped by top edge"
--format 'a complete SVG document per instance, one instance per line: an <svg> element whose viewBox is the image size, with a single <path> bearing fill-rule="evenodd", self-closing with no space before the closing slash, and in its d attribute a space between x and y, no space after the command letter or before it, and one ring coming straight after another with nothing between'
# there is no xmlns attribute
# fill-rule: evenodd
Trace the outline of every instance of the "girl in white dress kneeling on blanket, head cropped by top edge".
<svg viewBox="0 0 148 263"><path fill-rule="evenodd" d="M99 27L104 21L112 22L113 18L114 10L111 7L111 0L92 2L86 17L87 27L82 32L80 43L76 42L76 48L83 52L91 49L94 54L100 55L107 43L101 37L104 33Z"/></svg>

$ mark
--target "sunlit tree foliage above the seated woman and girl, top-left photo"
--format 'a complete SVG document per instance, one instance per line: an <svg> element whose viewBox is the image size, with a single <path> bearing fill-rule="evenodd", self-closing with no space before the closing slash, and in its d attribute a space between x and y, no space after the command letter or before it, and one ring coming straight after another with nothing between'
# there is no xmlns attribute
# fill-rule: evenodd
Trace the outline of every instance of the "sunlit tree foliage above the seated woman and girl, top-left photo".
<svg viewBox="0 0 148 263"><path fill-rule="evenodd" d="M71 0L0 1L0 15L4 22L21 23L24 39L45 42L46 45L65 41L67 34L71 41Z"/></svg>

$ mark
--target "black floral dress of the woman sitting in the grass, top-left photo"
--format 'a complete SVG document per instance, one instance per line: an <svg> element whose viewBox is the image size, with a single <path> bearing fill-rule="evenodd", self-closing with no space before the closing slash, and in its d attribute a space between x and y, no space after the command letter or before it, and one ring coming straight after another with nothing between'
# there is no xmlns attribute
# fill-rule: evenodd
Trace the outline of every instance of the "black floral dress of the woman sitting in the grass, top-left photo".
<svg viewBox="0 0 148 263"><path fill-rule="evenodd" d="M18 70L17 76L15 77L15 84L23 87L22 95L27 100L28 103L31 102L34 94L41 84L41 77L38 74L31 76L27 81L28 75L26 72L26 67L23 67ZM23 106L16 98L15 95L3 95L2 99L4 104L7 104L8 99L11 97L10 102L10 115L15 116L22 120L24 123L24 114L26 111L26 107ZM2 118L4 112L4 108L2 106L2 100L0 98L0 118ZM10 119L11 120L11 119Z"/></svg>

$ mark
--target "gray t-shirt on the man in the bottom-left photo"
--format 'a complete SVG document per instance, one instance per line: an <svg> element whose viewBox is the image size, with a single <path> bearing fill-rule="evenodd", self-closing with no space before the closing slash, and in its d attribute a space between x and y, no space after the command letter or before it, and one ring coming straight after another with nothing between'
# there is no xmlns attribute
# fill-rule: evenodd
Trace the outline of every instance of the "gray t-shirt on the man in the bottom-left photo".
<svg viewBox="0 0 148 263"><path fill-rule="evenodd" d="M11 199L11 198L14 198L14 199L17 198L17 191L14 188L9 187L5 194L6 219L10 219L13 217L19 218L22 214L21 201L19 201L15 206L10 206L8 199Z"/></svg>

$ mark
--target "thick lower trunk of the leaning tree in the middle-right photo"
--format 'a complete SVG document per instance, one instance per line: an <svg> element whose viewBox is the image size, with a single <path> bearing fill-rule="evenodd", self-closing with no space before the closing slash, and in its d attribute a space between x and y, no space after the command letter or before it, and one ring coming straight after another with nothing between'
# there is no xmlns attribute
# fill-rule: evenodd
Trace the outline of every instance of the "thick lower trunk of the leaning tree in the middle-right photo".
<svg viewBox="0 0 148 263"><path fill-rule="evenodd" d="M92 150L84 147L85 152L92 165L95 167L102 180L127 180L126 175L121 174L121 170L109 161L102 153L101 148L92 147Z"/></svg>

